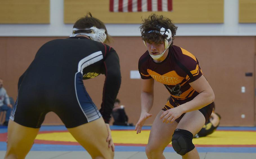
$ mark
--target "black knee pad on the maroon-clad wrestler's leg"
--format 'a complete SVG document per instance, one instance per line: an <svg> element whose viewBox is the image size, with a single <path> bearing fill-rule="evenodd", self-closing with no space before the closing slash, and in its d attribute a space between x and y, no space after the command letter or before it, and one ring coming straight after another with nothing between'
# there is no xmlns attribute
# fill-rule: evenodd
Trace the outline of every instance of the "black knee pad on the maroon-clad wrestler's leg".
<svg viewBox="0 0 256 159"><path fill-rule="evenodd" d="M193 134L188 130L176 129L172 135L172 147L181 156L195 148Z"/></svg>

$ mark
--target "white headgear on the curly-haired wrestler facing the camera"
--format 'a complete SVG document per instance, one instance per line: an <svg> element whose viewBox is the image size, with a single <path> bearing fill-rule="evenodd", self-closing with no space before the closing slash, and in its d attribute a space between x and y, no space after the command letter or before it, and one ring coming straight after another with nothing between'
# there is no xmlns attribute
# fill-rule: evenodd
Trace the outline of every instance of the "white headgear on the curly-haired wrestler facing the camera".
<svg viewBox="0 0 256 159"><path fill-rule="evenodd" d="M159 54L159 55L149 54L152 57L152 59L154 59L154 60L160 59L172 43L172 32L171 32L171 30L170 29L165 29L165 28L160 27L160 26L157 26L157 27L160 29L160 31L151 30L151 31L148 31L147 33L156 32L156 33L159 33L159 34L162 34L162 35L167 35L167 38L165 38L165 50L161 54ZM147 47L146 41L144 41L144 44Z"/></svg>

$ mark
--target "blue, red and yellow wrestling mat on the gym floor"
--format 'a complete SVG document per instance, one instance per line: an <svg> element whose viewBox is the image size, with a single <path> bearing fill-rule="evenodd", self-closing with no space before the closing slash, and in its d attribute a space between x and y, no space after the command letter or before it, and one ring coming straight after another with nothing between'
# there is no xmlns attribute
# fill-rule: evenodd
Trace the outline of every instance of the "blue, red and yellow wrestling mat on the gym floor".
<svg viewBox="0 0 256 159"><path fill-rule="evenodd" d="M151 127L136 134L134 127L111 126L116 151L145 151ZM0 151L6 151L7 127L0 127ZM207 137L193 139L199 152L256 152L256 127L219 127ZM32 151L84 151L64 126L42 126ZM169 144L165 152L174 152Z"/></svg>

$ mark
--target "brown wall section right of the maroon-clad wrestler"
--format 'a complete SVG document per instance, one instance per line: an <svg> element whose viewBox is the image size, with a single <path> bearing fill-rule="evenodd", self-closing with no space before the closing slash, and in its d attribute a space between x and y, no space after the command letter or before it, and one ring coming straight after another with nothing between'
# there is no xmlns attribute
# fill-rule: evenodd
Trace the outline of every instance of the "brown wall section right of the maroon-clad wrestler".
<svg viewBox="0 0 256 159"><path fill-rule="evenodd" d="M178 37L175 40L176 45L187 48L199 60L214 90L221 125L254 125L255 76L246 77L245 73L254 71L255 37L184 37L182 41ZM240 46L234 45L238 43ZM241 93L242 86L246 88L245 93Z"/></svg>

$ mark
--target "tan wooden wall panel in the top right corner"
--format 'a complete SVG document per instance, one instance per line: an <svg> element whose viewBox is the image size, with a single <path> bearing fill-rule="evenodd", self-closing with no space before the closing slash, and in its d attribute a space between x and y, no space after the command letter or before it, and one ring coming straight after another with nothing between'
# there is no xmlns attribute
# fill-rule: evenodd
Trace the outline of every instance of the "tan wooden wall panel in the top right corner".
<svg viewBox="0 0 256 159"><path fill-rule="evenodd" d="M239 23L256 23L255 0L239 0Z"/></svg>

